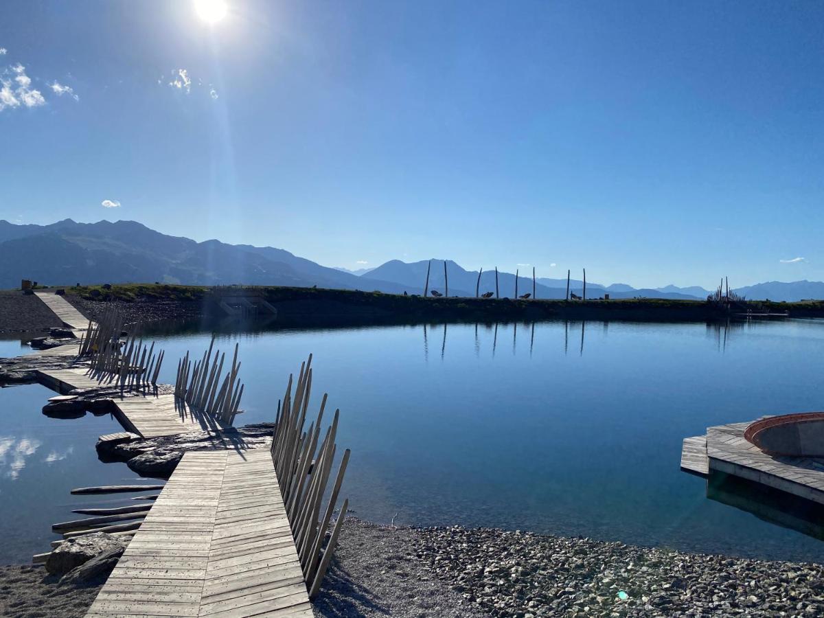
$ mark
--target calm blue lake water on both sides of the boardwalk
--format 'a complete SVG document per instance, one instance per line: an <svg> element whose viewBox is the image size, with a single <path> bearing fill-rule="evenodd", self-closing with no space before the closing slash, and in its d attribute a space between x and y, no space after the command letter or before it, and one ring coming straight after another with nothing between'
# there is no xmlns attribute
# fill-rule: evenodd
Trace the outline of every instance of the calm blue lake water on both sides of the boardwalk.
<svg viewBox="0 0 824 618"><path fill-rule="evenodd" d="M202 354L211 332L153 336L171 382L177 358ZM273 420L289 372L314 353L311 408L328 392L341 410L344 496L358 517L822 559L821 541L707 499L706 481L679 470L681 440L709 425L824 407L822 322L218 332L220 349L236 342L246 382L236 424ZM0 534L13 539L0 563L48 550L50 525L80 503L130 502L69 495L135 475L96 460L113 419L47 419L51 395L0 391Z"/></svg>

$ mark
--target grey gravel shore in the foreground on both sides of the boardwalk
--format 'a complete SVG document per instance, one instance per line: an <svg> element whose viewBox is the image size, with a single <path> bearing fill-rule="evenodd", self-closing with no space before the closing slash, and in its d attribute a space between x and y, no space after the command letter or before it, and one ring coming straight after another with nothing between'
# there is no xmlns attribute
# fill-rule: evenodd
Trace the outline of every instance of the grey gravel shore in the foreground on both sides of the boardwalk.
<svg viewBox="0 0 824 618"><path fill-rule="evenodd" d="M98 587L0 569L0 615L82 616ZM317 618L822 616L824 567L348 518Z"/></svg>

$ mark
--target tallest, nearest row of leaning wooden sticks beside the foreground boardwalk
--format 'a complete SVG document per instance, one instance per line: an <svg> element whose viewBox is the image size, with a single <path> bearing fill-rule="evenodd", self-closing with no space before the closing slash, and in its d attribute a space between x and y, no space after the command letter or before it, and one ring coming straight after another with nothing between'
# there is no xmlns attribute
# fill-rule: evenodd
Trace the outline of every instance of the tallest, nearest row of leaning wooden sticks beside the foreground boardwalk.
<svg viewBox="0 0 824 618"><path fill-rule="evenodd" d="M303 569L303 579L307 583L309 598L315 598L321 590L321 583L329 568L332 553L338 540L340 527L344 522L349 499L344 500L338 520L324 545L326 529L335 511L340 485L349 463L349 449L344 451L340 461L335 485L332 487L329 501L321 519L321 503L325 495L326 484L330 478L332 462L335 459L335 434L338 430L339 410L335 410L335 419L326 429L323 442L321 438L321 421L326 405L326 396L321 401L321 410L317 419L304 431L307 408L311 392L311 355L302 363L297 377L294 399L292 395L293 377L289 383L283 402L278 402L278 414L272 435L272 461L278 476L280 492L292 536L297 547L297 555Z"/></svg>

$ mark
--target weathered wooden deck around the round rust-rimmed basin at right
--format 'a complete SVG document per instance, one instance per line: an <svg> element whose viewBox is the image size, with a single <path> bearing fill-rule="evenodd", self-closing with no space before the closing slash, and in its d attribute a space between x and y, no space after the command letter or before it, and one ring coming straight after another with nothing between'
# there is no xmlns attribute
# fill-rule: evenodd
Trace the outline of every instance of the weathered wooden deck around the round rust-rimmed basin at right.
<svg viewBox="0 0 824 618"><path fill-rule="evenodd" d="M702 456L700 439L704 439L704 474L724 472L824 504L824 459L767 455L744 438L750 424L718 425L707 428L706 436L687 438L681 451L681 467L697 472L696 462Z"/></svg>

